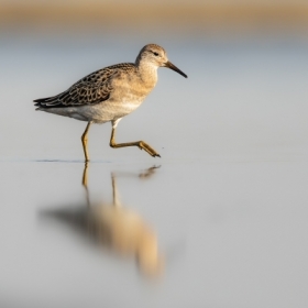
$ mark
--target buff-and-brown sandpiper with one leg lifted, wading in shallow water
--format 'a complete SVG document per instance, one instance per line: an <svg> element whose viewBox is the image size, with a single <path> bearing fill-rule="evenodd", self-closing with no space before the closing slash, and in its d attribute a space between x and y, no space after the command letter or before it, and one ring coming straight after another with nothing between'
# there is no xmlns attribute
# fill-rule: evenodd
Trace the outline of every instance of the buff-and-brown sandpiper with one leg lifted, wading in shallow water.
<svg viewBox="0 0 308 308"><path fill-rule="evenodd" d="M143 141L116 143L119 121L134 111L157 82L157 68L168 67L182 76L187 75L173 65L165 50L156 44L145 45L135 63L121 63L99 69L66 91L34 100L36 110L88 122L81 135L85 161L89 161L88 132L91 123L111 122L111 147L139 146L153 157L161 155Z"/></svg>

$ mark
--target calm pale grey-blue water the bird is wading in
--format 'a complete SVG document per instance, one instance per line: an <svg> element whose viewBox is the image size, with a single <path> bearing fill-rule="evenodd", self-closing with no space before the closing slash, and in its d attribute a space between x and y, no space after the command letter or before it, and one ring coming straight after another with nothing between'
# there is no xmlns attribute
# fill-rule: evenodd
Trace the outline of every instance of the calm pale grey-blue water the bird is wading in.
<svg viewBox="0 0 308 308"><path fill-rule="evenodd" d="M307 41L153 41L188 79L160 69L117 138L162 158L94 125L87 195L86 123L32 100L147 41L1 38L0 306L307 307ZM152 248L157 275L140 261Z"/></svg>

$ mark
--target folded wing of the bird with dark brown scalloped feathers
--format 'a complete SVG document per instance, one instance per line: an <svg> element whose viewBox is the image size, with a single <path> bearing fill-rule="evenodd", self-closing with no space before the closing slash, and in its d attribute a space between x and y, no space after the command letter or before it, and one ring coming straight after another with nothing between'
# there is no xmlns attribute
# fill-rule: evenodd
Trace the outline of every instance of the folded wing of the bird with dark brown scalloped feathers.
<svg viewBox="0 0 308 308"><path fill-rule="evenodd" d="M135 69L134 64L123 63L97 70L76 84L68 90L50 98L34 100L41 108L78 107L96 105L108 100L113 88L111 80L121 72Z"/></svg>

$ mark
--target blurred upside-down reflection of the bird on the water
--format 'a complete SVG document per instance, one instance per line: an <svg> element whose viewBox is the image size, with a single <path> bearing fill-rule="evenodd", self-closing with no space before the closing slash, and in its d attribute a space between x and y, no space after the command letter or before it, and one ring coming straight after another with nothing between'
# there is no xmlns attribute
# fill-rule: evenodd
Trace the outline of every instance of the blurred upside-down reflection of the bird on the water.
<svg viewBox="0 0 308 308"><path fill-rule="evenodd" d="M151 167L139 176L147 178L157 167ZM88 239L110 249L116 254L134 257L140 271L150 277L163 273L163 256L158 252L157 237L144 219L135 211L121 205L116 175L111 174L113 201L90 204L88 190L88 163L85 164L82 185L86 189L87 207L76 209L48 210L43 215L72 224Z"/></svg>

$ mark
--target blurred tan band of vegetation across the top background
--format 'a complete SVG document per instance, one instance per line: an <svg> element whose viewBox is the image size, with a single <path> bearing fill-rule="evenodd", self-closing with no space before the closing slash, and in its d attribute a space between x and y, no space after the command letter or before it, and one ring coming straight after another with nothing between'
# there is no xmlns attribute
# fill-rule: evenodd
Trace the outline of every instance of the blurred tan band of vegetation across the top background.
<svg viewBox="0 0 308 308"><path fill-rule="evenodd" d="M114 30L142 29L219 29L235 26L275 29L308 26L308 3L208 3L188 4L102 3L102 2L21 2L0 7L0 26L7 30L111 26Z"/></svg>

